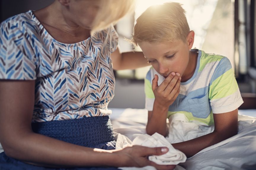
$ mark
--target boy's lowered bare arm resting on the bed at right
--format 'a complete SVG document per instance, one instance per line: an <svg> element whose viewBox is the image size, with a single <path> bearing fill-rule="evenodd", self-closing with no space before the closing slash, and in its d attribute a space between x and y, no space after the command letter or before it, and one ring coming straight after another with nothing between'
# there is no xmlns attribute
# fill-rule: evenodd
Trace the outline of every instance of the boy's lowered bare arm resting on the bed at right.
<svg viewBox="0 0 256 170"><path fill-rule="evenodd" d="M185 142L173 143L172 146L187 157L191 157L204 148L219 143L237 134L238 109L231 112L213 114L215 129L212 133Z"/></svg>

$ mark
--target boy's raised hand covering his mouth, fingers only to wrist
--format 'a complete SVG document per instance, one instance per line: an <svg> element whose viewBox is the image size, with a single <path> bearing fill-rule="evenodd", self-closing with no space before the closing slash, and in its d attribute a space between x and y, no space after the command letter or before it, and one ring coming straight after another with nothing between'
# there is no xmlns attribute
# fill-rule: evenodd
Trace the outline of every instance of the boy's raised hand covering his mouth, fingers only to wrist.
<svg viewBox="0 0 256 170"><path fill-rule="evenodd" d="M180 73L170 73L158 86L158 76L152 80L152 90L155 95L155 103L158 106L169 107L180 93Z"/></svg>

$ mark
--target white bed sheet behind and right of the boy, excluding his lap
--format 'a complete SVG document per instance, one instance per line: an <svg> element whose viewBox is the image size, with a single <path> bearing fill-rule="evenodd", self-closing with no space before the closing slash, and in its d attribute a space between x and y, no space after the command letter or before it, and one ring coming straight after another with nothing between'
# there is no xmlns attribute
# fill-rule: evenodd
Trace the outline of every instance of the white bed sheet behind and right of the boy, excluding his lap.
<svg viewBox="0 0 256 170"><path fill-rule="evenodd" d="M110 115L113 130L134 140L138 135L145 134L148 113L146 109L117 109ZM247 116L244 116L247 115ZM248 117L249 116L249 117ZM195 156L188 158L181 164L189 169L256 169L256 109L239 110L238 135L224 140L221 143L205 148ZM247 127L248 126L248 127ZM239 147L237 147L239 146ZM216 149L217 148L217 149ZM232 151L231 155L222 154L223 151ZM246 153L244 153L246 152ZM205 153L209 156L205 158ZM248 156L248 157L247 157ZM200 161L203 161L200 162ZM230 164L233 164L230 166ZM145 168L121 168L123 170L148 170ZM177 166L176 169L182 169Z"/></svg>

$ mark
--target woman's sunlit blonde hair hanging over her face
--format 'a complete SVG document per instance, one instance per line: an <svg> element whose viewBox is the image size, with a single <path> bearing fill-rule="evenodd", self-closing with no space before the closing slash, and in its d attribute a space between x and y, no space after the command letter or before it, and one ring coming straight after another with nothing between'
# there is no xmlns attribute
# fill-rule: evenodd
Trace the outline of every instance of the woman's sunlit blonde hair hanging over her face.
<svg viewBox="0 0 256 170"><path fill-rule="evenodd" d="M134 12L136 0L100 0L101 6L94 19L91 33L115 24L129 12Z"/></svg>

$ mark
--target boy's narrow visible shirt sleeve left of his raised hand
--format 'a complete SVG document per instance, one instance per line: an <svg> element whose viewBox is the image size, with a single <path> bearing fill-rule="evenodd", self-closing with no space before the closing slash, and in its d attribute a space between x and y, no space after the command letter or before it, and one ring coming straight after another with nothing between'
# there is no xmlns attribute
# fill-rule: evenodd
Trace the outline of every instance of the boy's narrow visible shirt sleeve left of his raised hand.
<svg viewBox="0 0 256 170"><path fill-rule="evenodd" d="M148 111L153 110L153 105L155 101L155 95L152 90L152 68L148 71L145 79L144 79L144 90L145 90L145 109Z"/></svg>

